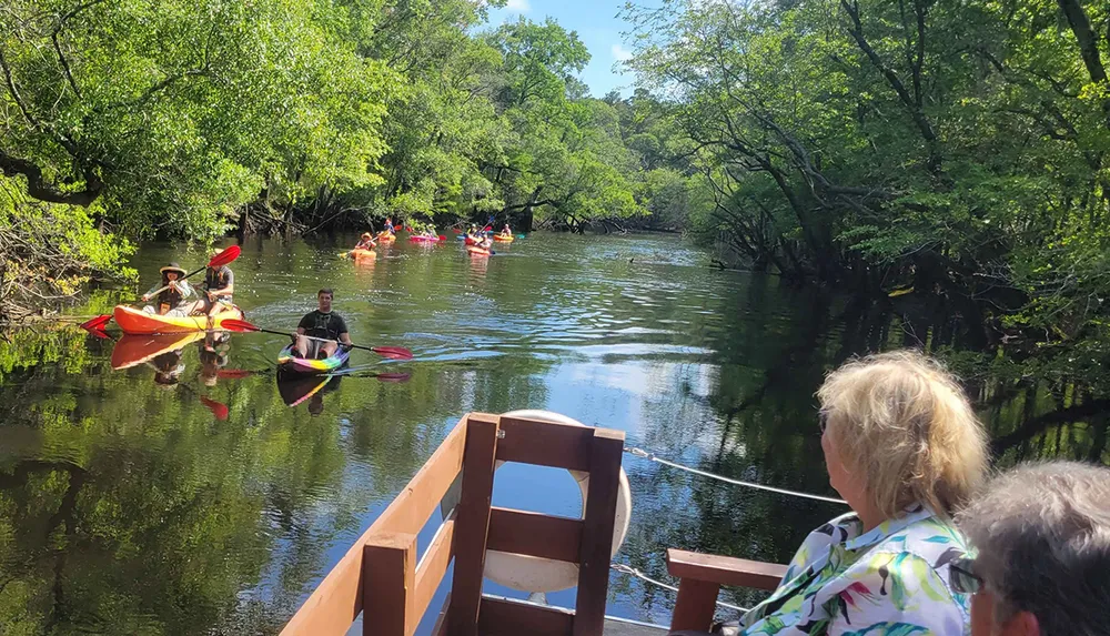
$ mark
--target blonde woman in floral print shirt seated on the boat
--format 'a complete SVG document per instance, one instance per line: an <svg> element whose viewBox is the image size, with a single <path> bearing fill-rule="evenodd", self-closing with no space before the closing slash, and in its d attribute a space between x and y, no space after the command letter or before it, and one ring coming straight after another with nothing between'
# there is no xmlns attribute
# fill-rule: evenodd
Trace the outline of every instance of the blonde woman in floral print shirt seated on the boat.
<svg viewBox="0 0 1110 636"><path fill-rule="evenodd" d="M968 634L969 597L949 585L968 555L952 516L985 476L987 441L959 385L896 352L845 364L817 395L829 483L852 512L810 533L738 633Z"/></svg>

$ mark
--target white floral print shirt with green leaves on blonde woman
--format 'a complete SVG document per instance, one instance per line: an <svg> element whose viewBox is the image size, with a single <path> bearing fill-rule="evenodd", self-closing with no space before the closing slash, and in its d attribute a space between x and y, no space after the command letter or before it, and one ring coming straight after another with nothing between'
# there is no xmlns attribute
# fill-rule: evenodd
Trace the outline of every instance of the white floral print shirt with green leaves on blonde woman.
<svg viewBox="0 0 1110 636"><path fill-rule="evenodd" d="M948 585L948 564L968 556L960 531L915 505L869 532L855 513L817 528L778 589L740 619L741 634L967 636L969 595Z"/></svg>

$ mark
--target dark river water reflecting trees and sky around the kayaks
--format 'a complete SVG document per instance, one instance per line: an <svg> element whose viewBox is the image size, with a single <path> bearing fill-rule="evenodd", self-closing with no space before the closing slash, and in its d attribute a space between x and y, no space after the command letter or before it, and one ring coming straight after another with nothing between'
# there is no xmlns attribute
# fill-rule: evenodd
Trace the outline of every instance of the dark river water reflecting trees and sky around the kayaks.
<svg viewBox="0 0 1110 636"><path fill-rule="evenodd" d="M252 322L290 329L332 286L355 342L417 356L366 371L407 382L355 375L290 407L296 396L272 372L282 336L234 335L223 357L193 342L180 361L154 359L183 365L170 387L150 364L113 371L113 346L127 342L74 330L0 341L0 633L275 633L467 411L548 408L704 471L835 494L815 423L824 373L858 352L928 341L889 306L716 271L669 236L537 234L488 261L454 242L398 242L371 264L337 249L245 244L238 302ZM140 256L145 286L171 251ZM110 306L100 302L87 313ZM352 356L356 367L375 362ZM1076 387L977 381L970 391L1003 464L1106 455L1107 422ZM665 581L667 546L784 562L842 511L632 455L625 470L634 509L615 561ZM563 515L581 505L566 475L512 465L494 498ZM673 604L612 575L610 614L665 623Z"/></svg>

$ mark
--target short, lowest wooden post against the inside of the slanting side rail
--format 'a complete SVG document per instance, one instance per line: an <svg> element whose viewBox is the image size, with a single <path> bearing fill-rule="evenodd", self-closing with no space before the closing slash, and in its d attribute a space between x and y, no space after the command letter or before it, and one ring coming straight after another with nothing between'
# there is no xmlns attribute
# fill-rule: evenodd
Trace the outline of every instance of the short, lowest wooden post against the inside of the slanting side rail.
<svg viewBox="0 0 1110 636"><path fill-rule="evenodd" d="M412 636L420 623L413 610L415 582L416 535L375 535L363 546L363 636Z"/></svg>

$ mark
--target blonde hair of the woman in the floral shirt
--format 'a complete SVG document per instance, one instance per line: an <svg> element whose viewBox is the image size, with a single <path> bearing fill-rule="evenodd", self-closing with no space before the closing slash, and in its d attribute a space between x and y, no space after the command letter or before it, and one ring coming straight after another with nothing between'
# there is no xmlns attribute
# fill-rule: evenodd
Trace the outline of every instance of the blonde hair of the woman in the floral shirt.
<svg viewBox="0 0 1110 636"><path fill-rule="evenodd" d="M845 467L886 518L912 503L950 517L982 482L987 435L938 362L872 355L830 373L817 396Z"/></svg>

